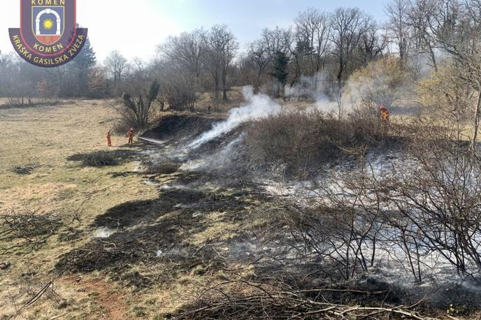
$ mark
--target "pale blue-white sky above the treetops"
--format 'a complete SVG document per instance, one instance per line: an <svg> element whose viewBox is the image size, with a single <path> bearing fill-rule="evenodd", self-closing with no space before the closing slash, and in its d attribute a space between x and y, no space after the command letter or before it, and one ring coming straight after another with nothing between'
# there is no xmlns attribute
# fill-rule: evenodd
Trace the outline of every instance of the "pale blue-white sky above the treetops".
<svg viewBox="0 0 481 320"><path fill-rule="evenodd" d="M387 0L77 0L77 21L102 62L113 50L127 59L148 60L169 35L214 24L227 24L241 48L266 27L287 27L307 8L333 11L358 7L385 21ZM20 0L1 0L0 51L13 52L8 28L20 27Z"/></svg>

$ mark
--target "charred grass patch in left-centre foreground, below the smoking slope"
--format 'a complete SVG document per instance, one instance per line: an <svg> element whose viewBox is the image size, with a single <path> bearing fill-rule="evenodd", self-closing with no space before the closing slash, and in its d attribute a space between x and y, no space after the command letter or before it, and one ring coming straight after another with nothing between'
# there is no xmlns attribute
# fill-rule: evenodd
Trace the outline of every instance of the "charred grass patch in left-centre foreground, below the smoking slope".
<svg viewBox="0 0 481 320"><path fill-rule="evenodd" d="M203 190L161 190L156 199L130 201L107 210L96 217L91 228L107 227L116 232L108 238L93 238L64 254L56 271L63 275L103 271L115 280L150 286L152 283L143 279L147 267L163 270L148 272L148 277L164 284L191 273L222 270L227 261L215 247L226 245L237 232L243 232L242 221L248 208L259 201L259 194L239 196L231 189ZM136 266L143 266L138 275Z"/></svg>

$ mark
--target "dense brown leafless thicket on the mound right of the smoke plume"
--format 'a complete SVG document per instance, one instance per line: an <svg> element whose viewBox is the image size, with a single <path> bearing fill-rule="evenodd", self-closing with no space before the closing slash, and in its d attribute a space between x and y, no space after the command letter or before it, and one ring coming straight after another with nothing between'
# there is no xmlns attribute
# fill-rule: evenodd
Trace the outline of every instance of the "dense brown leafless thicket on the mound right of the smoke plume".
<svg viewBox="0 0 481 320"><path fill-rule="evenodd" d="M322 112L283 112L253 122L245 138L254 163L285 166L300 175L338 159L352 147L378 145L385 136L380 119L357 114L338 121Z"/></svg>

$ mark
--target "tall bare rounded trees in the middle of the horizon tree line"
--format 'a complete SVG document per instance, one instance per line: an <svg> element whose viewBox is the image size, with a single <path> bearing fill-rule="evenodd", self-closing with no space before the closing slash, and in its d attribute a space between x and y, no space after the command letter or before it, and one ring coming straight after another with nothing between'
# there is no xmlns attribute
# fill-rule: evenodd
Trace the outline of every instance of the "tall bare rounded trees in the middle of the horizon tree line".
<svg viewBox="0 0 481 320"><path fill-rule="evenodd" d="M352 71L381 57L388 48L386 32L373 18L357 8L334 13L308 9L288 28L264 29L261 38L239 52L227 26L215 26L173 36L159 45L157 63L174 65L192 78L199 89L210 89L226 100L231 85L254 85L282 97L285 86L303 77L329 74L329 87L340 88Z"/></svg>

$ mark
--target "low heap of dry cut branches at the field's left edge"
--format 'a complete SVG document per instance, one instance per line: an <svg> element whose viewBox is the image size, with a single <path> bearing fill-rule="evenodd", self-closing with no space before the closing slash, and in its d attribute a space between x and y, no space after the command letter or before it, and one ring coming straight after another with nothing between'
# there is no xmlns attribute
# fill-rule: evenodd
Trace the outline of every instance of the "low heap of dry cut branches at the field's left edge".
<svg viewBox="0 0 481 320"><path fill-rule="evenodd" d="M14 249L32 252L41 247L63 224L62 218L55 214L20 214L15 210L0 214L0 254Z"/></svg>

